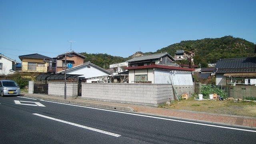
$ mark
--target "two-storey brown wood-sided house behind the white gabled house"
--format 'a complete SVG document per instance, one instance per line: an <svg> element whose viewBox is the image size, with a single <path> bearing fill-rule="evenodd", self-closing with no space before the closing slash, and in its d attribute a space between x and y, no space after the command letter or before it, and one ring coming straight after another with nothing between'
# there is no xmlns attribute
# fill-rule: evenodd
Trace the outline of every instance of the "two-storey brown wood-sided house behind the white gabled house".
<svg viewBox="0 0 256 144"><path fill-rule="evenodd" d="M56 74L65 69L65 55L66 63L71 63L73 67L79 66L84 63L84 58L82 54L76 53L74 51L69 53L60 54L49 61L48 72L55 72Z"/></svg>

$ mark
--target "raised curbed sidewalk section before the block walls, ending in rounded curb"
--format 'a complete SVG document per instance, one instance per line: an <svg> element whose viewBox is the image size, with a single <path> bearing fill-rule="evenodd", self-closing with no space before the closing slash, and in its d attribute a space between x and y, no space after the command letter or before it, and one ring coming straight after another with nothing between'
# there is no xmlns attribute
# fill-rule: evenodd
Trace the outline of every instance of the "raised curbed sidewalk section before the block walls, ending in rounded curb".
<svg viewBox="0 0 256 144"><path fill-rule="evenodd" d="M34 95L34 94L23 94L24 97L30 97L30 98L37 98L37 99L43 99L43 100L49 100L49 101L56 101L56 102L62 102L62 103L72 103L76 105L85 105L85 106L91 106L91 107L99 107L99 108L105 108L105 109L115 109L119 111L129 111L133 112L134 110L131 107L120 107L117 105L104 105L100 103L90 103L90 102L82 102L82 101L72 101L69 99L56 99L48 96L47 98L41 97L40 95Z"/></svg>

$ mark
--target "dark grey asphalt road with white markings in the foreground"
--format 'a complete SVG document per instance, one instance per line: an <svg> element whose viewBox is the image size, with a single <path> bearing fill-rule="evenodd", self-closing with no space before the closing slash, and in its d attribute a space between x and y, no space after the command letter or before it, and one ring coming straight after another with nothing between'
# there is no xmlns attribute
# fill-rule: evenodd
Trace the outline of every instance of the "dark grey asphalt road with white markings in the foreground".
<svg viewBox="0 0 256 144"><path fill-rule="evenodd" d="M0 143L248 144L256 129L0 97Z"/></svg>

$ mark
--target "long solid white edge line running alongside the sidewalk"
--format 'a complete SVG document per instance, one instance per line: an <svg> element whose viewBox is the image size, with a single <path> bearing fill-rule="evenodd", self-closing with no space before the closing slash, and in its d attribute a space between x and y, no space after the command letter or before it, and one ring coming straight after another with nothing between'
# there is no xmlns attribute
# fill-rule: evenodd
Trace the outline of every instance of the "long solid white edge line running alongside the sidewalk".
<svg viewBox="0 0 256 144"><path fill-rule="evenodd" d="M40 100L40 101L45 101L45 100ZM54 101L47 101L50 103L58 103L58 102L54 102ZM72 105L72 104L68 104L68 103L59 103L62 105ZM136 116L141 116L141 117L150 117L150 118L154 118L154 119L163 119L163 120L167 120L167 121L176 121L176 122L181 122L181 123L190 123L190 124L195 124L195 125L204 125L204 126L213 126L213 127L218 127L218 128L227 128L227 129L232 129L232 130L242 130L242 131L247 131L247 132L256 132L256 130L247 130L247 129L242 129L242 128L232 128L232 127L227 127L227 126L218 126L218 125L209 125L209 124L204 124L204 123L194 123L194 122L189 122L189 121L180 121L180 120L176 120L176 119L167 119L167 118L162 118L162 117L154 117L154 116L149 116L149 115L140 115L140 114L135 114L135 113L126 113L126 112L122 112L122 111L112 111L112 110L107 110L107 109L99 109L99 108L94 108L94 107L86 107L86 106L81 106L81 105L72 105L75 107L85 107L88 109L98 109L98 110L102 110L102 111L111 111L114 113L123 113L123 114L127 114L127 115L136 115Z"/></svg>

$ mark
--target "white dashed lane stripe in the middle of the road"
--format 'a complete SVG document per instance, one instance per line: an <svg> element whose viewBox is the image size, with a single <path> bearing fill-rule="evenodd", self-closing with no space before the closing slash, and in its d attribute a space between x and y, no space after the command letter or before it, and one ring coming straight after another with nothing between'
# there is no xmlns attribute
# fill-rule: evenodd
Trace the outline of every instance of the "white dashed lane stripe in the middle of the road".
<svg viewBox="0 0 256 144"><path fill-rule="evenodd" d="M83 125L79 125L79 124L76 124L76 123L71 123L71 122L68 122L68 121L63 121L61 119L55 119L53 117L48 117L48 116L45 116L45 115L40 115L38 113L33 113L33 115L37 115L39 117L44 117L46 119L51 119L51 120L54 120L54 121L59 121L59 122L62 122L62 123L66 123L68 125L78 126L80 128L85 128L85 129L88 129L88 130L93 130L93 131L100 132L100 133L103 133L103 134L108 134L108 135L111 135L111 136L116 136L116 137L121 136L120 134L115 134L115 133L112 133L112 132L107 132L107 131L104 131L104 130L99 130L99 129L96 129L96 128L91 128L91 127L88 127L88 126L83 126Z"/></svg>

